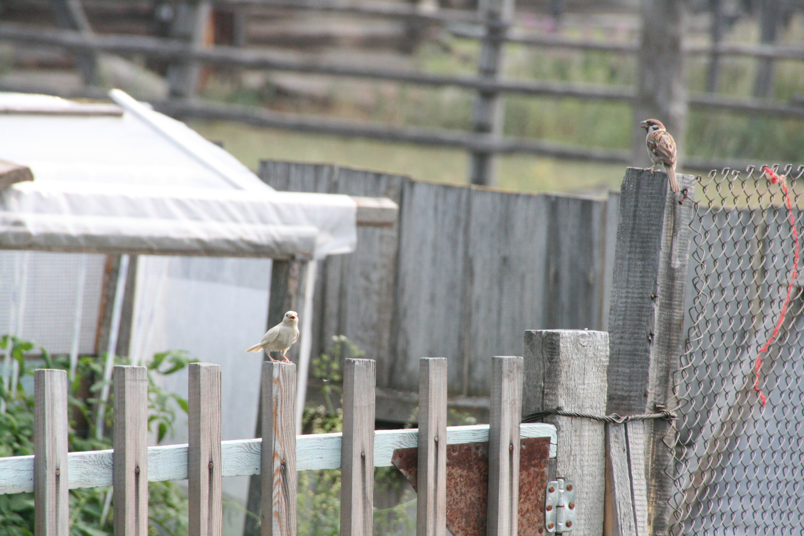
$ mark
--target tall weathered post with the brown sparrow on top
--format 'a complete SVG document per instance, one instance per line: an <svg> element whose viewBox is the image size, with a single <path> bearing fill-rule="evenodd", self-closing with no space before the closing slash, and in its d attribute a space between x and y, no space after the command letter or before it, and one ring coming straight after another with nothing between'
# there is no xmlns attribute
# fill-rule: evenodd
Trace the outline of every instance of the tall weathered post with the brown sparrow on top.
<svg viewBox="0 0 804 536"><path fill-rule="evenodd" d="M663 172L628 168L620 195L609 309L607 413L657 411L683 352L694 179L673 194ZM608 534L667 534L674 437L664 419L607 425Z"/></svg>

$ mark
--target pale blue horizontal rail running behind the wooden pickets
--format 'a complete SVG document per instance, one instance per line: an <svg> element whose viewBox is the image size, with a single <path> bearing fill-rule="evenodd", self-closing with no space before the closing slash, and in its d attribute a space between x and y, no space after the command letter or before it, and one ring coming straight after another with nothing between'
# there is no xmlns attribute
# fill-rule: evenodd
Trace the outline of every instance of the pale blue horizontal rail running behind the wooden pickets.
<svg viewBox="0 0 804 536"><path fill-rule="evenodd" d="M418 445L418 430L376 430L374 466L390 467L397 448ZM522 424L521 437L549 437L550 457L556 457L556 427L552 424ZM447 428L447 444L489 440L489 426L453 426ZM221 441L224 477L244 477L260 473L262 440ZM94 488L112 485L113 450L70 452L68 454L69 488ZM298 471L338 469L341 467L341 434L315 434L296 437ZM148 448L148 480L180 481L187 479L187 444ZM34 489L34 456L0 458L0 494L24 493Z"/></svg>

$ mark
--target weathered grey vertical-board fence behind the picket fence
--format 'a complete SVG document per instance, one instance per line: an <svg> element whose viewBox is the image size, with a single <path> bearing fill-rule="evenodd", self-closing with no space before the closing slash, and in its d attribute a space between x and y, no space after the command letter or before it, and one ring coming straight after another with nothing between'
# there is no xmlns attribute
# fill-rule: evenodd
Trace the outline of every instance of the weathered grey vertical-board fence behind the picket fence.
<svg viewBox="0 0 804 536"><path fill-rule="evenodd" d="M488 395L488 356L521 355L525 329L602 328L605 200L292 162L260 177L399 204L396 227L359 227L354 253L323 261L314 298L313 354L346 335L376 359L378 387L415 392L419 358L439 355L451 393Z"/></svg>

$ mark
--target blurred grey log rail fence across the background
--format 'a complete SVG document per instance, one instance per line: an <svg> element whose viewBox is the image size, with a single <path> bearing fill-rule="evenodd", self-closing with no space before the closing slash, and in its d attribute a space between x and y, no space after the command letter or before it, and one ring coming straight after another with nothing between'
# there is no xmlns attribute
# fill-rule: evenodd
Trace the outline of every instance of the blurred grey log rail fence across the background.
<svg viewBox="0 0 804 536"><path fill-rule="evenodd" d="M666 2L667 0L663 0ZM768 100L765 98L740 98L720 95L715 92L671 92L668 98L646 100L646 95L655 93L651 88L643 88L646 80L653 80L649 72L638 76L638 87L621 87L600 84L578 84L537 80L506 80L501 73L504 48L501 43L523 43L539 47L567 48L575 50L609 51L613 53L634 54L640 50L636 43L593 42L588 39L567 39L557 36L524 35L517 31L514 7L511 0L490 0L482 2L478 12L468 10L420 10L416 6L376 2L330 2L316 0L299 2L297 0L277 0L275 2L216 2L215 9L240 10L245 7L280 8L285 10L319 10L340 14L353 14L373 18L391 18L410 23L445 26L449 31L463 37L480 39L482 52L477 76L444 76L417 71L400 71L389 68L368 68L346 62L322 61L298 55L279 55L267 51L245 50L238 47L244 43L242 36L233 38L236 46L213 46L214 39L208 37L208 19L212 2L187 4L186 10L179 10L177 22L182 28L173 31L171 39L145 37L142 35L97 35L86 24L63 24L64 30L56 31L30 25L0 23L0 40L13 43L28 43L51 47L62 47L72 51L81 60L87 71L88 59L92 54L106 52L121 55L143 55L151 59L164 60L172 66L169 69L171 95L175 98L154 102L154 106L164 113L176 117L198 117L206 119L241 121L252 125L289 129L301 132L323 133L340 136L371 137L385 141L399 141L421 145L443 145L467 149L473 155L470 166L471 182L490 184L493 181L493 168L490 158L498 153L527 153L553 158L568 158L593 162L626 163L634 158L644 158L644 149L634 144L632 151L613 150L551 143L536 139L523 139L503 136L503 117L500 97L518 93L529 96L549 98L574 98L580 100L608 100L630 102L639 114L667 119L668 128L678 132L686 129L687 106L704 110L720 110L728 113L741 113L751 116L788 117L804 119L804 108L796 103ZM77 4L70 4L77 6ZM658 15L661 15L659 13ZM656 16L658 16L656 15ZM651 16L646 12L646 16ZM242 18L242 15L241 17ZM181 19L181 21L179 21ZM77 17L84 21L85 17ZM458 24L456 27L455 24ZM462 25L462 26L461 26ZM237 27L242 27L240 23ZM657 28L671 35L671 25L658 24ZM179 31L181 30L181 31ZM672 34L675 36L675 34ZM644 37L644 36L643 36ZM775 59L804 59L804 48L777 47L769 43L761 45L720 43L713 38L712 46L686 46L683 39L663 39L659 42L671 43L662 47L662 57L655 61L642 61L640 69L657 69L670 73L671 80L683 77L682 57L685 54L706 53L715 64L724 55L749 55L767 66ZM652 55L659 52L651 52ZM664 57L666 56L666 57ZM652 56L651 56L652 57ZM370 80L388 80L400 84L421 84L431 87L453 86L477 92L472 117L472 132L427 129L420 127L401 127L378 125L366 122L338 121L326 117L310 117L298 114L276 113L269 110L232 104L215 104L202 100L187 100L197 91L197 73L201 64L218 67L237 67L265 69L271 71L301 72L332 76L348 76ZM651 67L654 66L654 67ZM712 69L714 72L715 69ZM195 75L193 74L195 73ZM85 79L92 83L92 76ZM39 91L20 85L6 85L6 89L18 91ZM642 91L641 91L642 89ZM98 96L88 88L88 95ZM764 96L765 94L763 94ZM677 117L678 116L678 117ZM636 125L636 121L634 122ZM634 126L635 129L638 127ZM683 139L682 136L677 136ZM639 152L638 150L639 149ZM685 158L683 167L688 170L712 170L724 166L745 167L745 160L729 162ZM756 162L754 162L756 163Z"/></svg>

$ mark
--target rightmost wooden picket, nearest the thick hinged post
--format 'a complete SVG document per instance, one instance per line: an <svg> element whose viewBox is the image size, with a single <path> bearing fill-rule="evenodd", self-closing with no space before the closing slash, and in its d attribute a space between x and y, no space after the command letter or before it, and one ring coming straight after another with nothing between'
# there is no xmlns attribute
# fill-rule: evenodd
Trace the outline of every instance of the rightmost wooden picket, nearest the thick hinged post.
<svg viewBox="0 0 804 536"><path fill-rule="evenodd" d="M489 536L517 534L522 358L491 359L489 399Z"/></svg>

